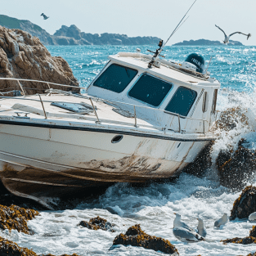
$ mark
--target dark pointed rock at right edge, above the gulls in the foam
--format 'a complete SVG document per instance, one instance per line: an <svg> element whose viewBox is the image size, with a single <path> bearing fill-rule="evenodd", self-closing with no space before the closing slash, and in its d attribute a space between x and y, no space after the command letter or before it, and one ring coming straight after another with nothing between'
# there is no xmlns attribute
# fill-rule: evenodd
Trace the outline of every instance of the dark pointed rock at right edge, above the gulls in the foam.
<svg viewBox="0 0 256 256"><path fill-rule="evenodd" d="M231 220L248 218L250 213L256 212L256 187L246 186L231 209Z"/></svg>

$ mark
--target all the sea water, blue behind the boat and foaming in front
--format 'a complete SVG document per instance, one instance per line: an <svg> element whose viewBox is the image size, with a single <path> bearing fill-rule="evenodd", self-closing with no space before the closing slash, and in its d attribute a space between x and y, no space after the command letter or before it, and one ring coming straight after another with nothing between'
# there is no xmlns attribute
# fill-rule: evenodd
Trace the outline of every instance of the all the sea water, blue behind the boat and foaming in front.
<svg viewBox="0 0 256 256"><path fill-rule="evenodd" d="M70 64L74 76L81 86L86 87L106 65L107 56L116 52L135 52L140 47L155 50L152 46L74 46L47 47L53 56L62 56ZM218 131L220 137L213 146L213 161L218 152L225 148L236 148L237 141L246 137L247 146L256 149L255 133L255 83L256 47L166 47L163 52L167 60L184 61L191 52L200 52L209 65L212 76L222 83L218 93L218 111L238 108L248 122L236 119L236 129ZM255 245L222 245L220 240L236 236L249 236L253 224L245 220L228 222L216 229L213 223L232 209L232 204L240 191L231 191L220 186L218 174L213 164L205 177L194 177L182 173L176 182L150 184L145 187L132 187L129 184L115 184L94 199L76 206L75 209L43 211L29 227L34 236L17 231L0 231L1 236L13 240L20 246L34 249L38 254L79 254L79 255L162 255L149 249L119 246L108 250L115 236L127 231L134 224L152 236L168 239L177 247L180 255L247 255L256 251ZM247 181L256 185L256 178ZM106 208L112 207L117 214ZM173 220L180 213L182 220L191 227L197 226L196 218L203 218L208 231L208 242L185 244L173 236ZM88 221L97 216L114 222L115 232L92 231L78 227L81 220ZM163 254L164 255L164 254Z"/></svg>

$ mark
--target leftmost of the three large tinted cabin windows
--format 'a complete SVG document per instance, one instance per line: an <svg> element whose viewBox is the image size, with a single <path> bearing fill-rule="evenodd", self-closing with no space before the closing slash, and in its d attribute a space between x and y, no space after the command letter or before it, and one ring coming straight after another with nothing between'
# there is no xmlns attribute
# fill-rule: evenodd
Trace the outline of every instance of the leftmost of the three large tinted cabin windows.
<svg viewBox="0 0 256 256"><path fill-rule="evenodd" d="M112 92L123 92L136 74L137 70L112 64L100 75L93 85Z"/></svg>

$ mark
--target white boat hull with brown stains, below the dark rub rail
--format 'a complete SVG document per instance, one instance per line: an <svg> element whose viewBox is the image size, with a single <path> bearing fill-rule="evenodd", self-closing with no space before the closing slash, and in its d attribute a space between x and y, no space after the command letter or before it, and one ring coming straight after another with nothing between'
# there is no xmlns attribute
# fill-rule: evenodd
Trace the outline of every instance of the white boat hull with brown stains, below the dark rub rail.
<svg viewBox="0 0 256 256"><path fill-rule="evenodd" d="M40 202L113 182L177 177L209 143L127 134L112 143L117 134L0 124L2 183Z"/></svg>

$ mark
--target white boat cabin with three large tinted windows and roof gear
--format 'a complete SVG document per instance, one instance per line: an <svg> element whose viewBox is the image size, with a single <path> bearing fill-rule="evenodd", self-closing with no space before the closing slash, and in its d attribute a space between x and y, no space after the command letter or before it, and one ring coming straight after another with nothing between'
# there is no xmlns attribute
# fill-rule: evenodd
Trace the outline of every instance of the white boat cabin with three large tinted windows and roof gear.
<svg viewBox="0 0 256 256"><path fill-rule="evenodd" d="M140 52L119 52L87 93L106 99L120 115L129 113L150 124L179 132L208 132L215 121L218 80L204 72L202 56L191 54L183 64ZM111 103L112 102L112 103Z"/></svg>

